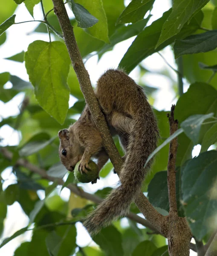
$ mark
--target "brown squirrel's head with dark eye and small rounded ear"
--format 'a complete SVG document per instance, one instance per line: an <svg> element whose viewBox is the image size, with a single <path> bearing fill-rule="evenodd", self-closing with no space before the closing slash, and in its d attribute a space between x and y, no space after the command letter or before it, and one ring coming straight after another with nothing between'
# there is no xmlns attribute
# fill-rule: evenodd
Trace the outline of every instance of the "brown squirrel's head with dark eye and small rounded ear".
<svg viewBox="0 0 217 256"><path fill-rule="evenodd" d="M75 138L72 126L58 132L60 139L59 156L67 170L73 171L76 163L81 160L82 149Z"/></svg>

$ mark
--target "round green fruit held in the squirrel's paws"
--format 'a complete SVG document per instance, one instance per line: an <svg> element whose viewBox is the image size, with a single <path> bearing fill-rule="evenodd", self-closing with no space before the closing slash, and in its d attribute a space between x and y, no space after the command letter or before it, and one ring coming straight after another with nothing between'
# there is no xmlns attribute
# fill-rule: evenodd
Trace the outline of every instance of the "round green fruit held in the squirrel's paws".
<svg viewBox="0 0 217 256"><path fill-rule="evenodd" d="M88 173L86 174L83 172L83 174L81 174L81 172L78 170L78 165L80 162L81 161L79 161L75 166L75 171L74 171L75 178L81 183L89 183L93 180L96 180L98 177L97 164L95 164L92 160L90 160L90 162L88 163L89 168L90 168L90 169L88 169Z"/></svg>

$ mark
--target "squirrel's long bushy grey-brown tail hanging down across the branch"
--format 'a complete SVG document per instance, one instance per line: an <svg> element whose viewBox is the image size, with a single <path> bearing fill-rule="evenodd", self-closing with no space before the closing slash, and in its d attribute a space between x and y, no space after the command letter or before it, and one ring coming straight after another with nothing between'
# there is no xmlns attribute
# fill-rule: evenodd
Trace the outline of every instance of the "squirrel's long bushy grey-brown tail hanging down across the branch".
<svg viewBox="0 0 217 256"><path fill-rule="evenodd" d="M91 235L98 233L102 227L109 225L119 216L127 214L130 203L140 191L145 174L150 168L151 163L145 169L143 166L149 154L156 148L158 128L148 102L145 108L137 112L134 121L126 160L119 175L121 185L113 189L84 222L84 226Z"/></svg>

